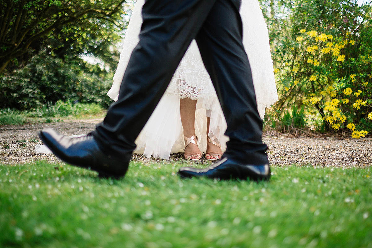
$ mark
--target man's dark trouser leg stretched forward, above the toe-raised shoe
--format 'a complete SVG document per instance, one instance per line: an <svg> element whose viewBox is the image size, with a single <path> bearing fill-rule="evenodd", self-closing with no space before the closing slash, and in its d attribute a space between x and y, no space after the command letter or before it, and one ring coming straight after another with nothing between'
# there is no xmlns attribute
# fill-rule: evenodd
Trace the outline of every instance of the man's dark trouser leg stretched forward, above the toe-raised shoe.
<svg viewBox="0 0 372 248"><path fill-rule="evenodd" d="M135 139L166 90L215 0L147 0L140 41L119 91L93 136L115 157L135 149Z"/></svg>

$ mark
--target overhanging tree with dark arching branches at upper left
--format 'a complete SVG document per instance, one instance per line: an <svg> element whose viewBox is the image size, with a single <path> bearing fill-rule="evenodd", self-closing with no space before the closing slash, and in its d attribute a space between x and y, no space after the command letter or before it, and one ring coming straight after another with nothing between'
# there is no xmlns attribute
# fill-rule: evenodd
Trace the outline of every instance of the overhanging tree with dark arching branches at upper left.
<svg viewBox="0 0 372 248"><path fill-rule="evenodd" d="M0 74L29 59L29 49L59 58L93 54L116 64L112 44L126 27L125 0L10 0L0 3Z"/></svg>

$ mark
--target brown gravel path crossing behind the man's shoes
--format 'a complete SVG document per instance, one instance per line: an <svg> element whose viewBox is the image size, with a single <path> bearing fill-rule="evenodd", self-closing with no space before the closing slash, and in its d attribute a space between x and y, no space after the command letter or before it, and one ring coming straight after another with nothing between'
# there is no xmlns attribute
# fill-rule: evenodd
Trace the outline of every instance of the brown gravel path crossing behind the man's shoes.
<svg viewBox="0 0 372 248"><path fill-rule="evenodd" d="M0 164L19 164L46 160L60 163L51 154L34 152L36 144L42 144L37 132L54 127L67 135L88 133L100 119L64 120L23 126L0 126ZM264 133L263 141L269 146L267 154L273 165L311 165L333 167L365 167L372 165L372 138L349 139L340 137L291 137L290 135ZM191 163L182 159L183 154L171 155L170 161L148 159L135 154L133 159L142 162ZM199 161L199 164L210 164Z"/></svg>

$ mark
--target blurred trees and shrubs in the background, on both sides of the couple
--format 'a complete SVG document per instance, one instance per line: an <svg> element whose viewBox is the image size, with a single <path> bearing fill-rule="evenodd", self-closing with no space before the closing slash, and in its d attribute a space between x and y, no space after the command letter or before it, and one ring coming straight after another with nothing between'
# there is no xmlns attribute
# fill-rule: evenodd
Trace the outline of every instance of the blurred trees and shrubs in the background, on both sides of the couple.
<svg viewBox="0 0 372 248"><path fill-rule="evenodd" d="M265 126L353 138L372 133L371 0L259 2L279 94ZM62 103L72 112L75 103L107 108L132 6L130 0L0 3L2 112L35 115Z"/></svg>

